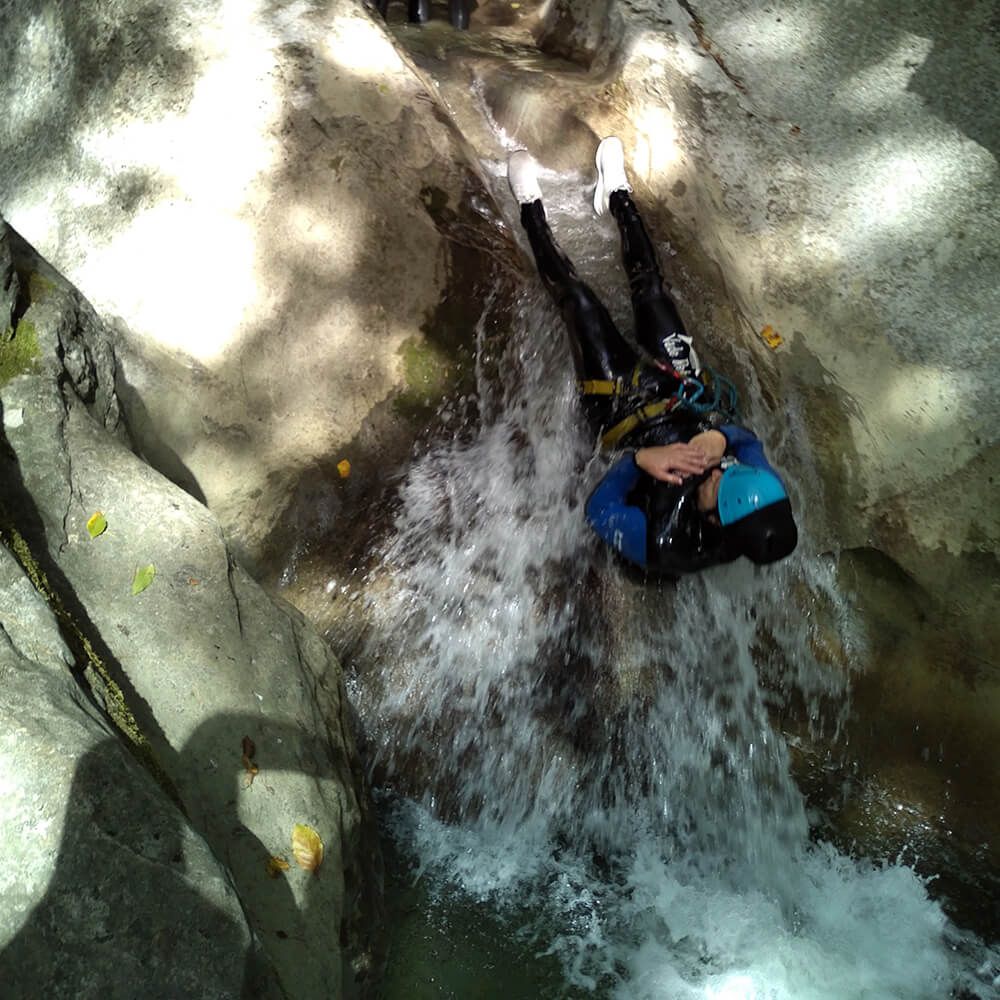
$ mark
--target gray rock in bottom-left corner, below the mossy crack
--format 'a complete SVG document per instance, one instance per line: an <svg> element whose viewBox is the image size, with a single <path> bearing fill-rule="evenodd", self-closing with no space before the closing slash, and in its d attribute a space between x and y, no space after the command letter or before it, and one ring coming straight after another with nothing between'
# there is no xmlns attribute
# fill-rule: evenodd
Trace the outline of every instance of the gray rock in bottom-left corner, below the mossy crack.
<svg viewBox="0 0 1000 1000"><path fill-rule="evenodd" d="M4 997L279 995L229 874L74 680L3 547L0 596Z"/></svg>

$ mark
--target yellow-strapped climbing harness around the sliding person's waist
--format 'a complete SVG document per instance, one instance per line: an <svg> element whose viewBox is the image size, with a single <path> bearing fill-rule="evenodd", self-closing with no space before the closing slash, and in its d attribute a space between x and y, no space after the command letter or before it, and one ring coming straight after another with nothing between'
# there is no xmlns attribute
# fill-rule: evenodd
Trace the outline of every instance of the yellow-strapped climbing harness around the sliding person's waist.
<svg viewBox="0 0 1000 1000"><path fill-rule="evenodd" d="M601 446L613 448L637 427L652 423L674 410L683 409L697 416L718 413L727 422L739 420L739 397L736 386L712 368L702 368L695 378L681 375L672 368L659 366L678 381L677 391L666 399L654 400L637 407L627 417L609 428L601 437ZM584 379L579 383L585 396L625 396L639 389L642 366L636 365L632 377L625 379Z"/></svg>

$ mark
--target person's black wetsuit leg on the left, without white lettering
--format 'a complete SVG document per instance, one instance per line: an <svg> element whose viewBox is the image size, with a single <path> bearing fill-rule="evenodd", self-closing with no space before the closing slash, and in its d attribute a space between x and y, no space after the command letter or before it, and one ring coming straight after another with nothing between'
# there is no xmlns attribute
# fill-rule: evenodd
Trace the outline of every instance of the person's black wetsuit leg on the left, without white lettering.
<svg viewBox="0 0 1000 1000"><path fill-rule="evenodd" d="M638 356L618 332L591 288L580 280L559 249L540 201L521 206L521 225L535 255L538 273L569 329L573 363L580 379L631 375Z"/></svg>

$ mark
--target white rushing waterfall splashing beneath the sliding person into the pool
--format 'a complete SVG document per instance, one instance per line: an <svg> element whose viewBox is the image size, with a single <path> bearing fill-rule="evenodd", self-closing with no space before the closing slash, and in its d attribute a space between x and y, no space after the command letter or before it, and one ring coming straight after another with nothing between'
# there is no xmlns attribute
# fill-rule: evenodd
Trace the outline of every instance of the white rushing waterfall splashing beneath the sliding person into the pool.
<svg viewBox="0 0 1000 1000"><path fill-rule="evenodd" d="M613 230L560 203L582 200L577 179L545 180L557 234L585 277L621 286L611 304L627 318ZM808 538L774 567L633 580L583 521L604 460L557 315L532 288L498 348L492 310L479 420L401 488L352 689L378 773L409 796L395 836L422 877L530 914L520 933L558 956L567 990L993 995L996 968L910 868L810 841L769 717L794 698L830 735L844 708L846 679L813 657L802 617L810 600L840 608ZM794 434L752 415L779 467L808 468Z"/></svg>

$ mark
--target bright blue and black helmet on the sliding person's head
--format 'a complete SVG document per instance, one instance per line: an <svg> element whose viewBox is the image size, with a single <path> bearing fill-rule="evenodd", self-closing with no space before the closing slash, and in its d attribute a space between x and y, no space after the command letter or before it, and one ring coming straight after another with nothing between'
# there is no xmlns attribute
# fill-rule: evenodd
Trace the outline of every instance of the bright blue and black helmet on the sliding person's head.
<svg viewBox="0 0 1000 1000"><path fill-rule="evenodd" d="M798 543L784 484L767 469L731 465L719 483L718 507L727 542L753 562L783 559Z"/></svg>

